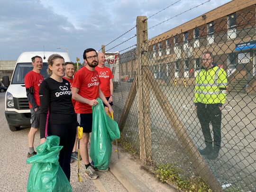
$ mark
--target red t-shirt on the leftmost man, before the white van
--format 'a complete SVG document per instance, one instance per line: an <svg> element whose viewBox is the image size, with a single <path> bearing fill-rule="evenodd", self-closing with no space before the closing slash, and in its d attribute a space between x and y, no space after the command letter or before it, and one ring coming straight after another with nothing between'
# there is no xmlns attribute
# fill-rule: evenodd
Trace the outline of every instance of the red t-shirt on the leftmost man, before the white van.
<svg viewBox="0 0 256 192"><path fill-rule="evenodd" d="M44 81L44 76L41 75L40 73L34 72L33 70L28 72L25 75L25 87L26 88L34 87L33 96L38 106L40 106L39 88L40 88L41 82L43 81ZM30 102L28 102L28 104L29 104L29 108L32 108L32 105L30 104Z"/></svg>

